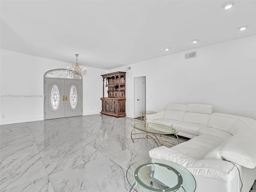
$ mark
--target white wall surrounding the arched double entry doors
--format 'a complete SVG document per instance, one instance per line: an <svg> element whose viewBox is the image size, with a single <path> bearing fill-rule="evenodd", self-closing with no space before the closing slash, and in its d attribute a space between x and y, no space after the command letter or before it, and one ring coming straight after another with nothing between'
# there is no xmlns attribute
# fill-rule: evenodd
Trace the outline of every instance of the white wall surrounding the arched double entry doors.
<svg viewBox="0 0 256 192"><path fill-rule="evenodd" d="M70 65L66 62L7 50L0 50L0 52L0 96L1 94L43 94L44 73L48 70L66 68ZM105 73L105 70L87 68L87 75L83 78L84 114L100 113L100 97L102 97L102 78L100 75ZM43 98L0 97L0 124L43 119Z"/></svg>

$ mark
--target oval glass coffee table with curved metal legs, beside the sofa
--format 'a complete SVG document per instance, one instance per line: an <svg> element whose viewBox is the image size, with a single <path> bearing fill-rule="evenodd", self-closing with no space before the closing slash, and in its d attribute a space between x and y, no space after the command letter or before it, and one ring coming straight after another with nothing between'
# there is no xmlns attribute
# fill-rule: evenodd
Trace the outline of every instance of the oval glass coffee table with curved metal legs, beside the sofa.
<svg viewBox="0 0 256 192"><path fill-rule="evenodd" d="M134 128L132 132L135 129L143 131L142 133L131 132L132 142L134 142L134 140L136 139L153 139L158 147L163 146L164 142L167 142L173 145L179 144L179 138L176 135L176 133L178 133L178 130L176 130L173 127L157 124L157 123L148 123L148 122L134 122L132 123L132 127ZM140 134L146 134L146 137L138 137L138 138L132 137L133 135L140 135ZM158 135L159 135L159 138L158 138ZM171 140L176 140L177 143L163 140L162 137L170 138Z"/></svg>

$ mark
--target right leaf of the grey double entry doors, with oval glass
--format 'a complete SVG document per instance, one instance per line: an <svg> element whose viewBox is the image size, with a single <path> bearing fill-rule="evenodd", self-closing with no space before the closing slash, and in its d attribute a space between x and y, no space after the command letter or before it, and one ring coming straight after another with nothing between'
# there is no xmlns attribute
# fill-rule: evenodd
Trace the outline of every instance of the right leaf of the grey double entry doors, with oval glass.
<svg viewBox="0 0 256 192"><path fill-rule="evenodd" d="M66 102L65 117L82 115L82 81L65 80Z"/></svg>

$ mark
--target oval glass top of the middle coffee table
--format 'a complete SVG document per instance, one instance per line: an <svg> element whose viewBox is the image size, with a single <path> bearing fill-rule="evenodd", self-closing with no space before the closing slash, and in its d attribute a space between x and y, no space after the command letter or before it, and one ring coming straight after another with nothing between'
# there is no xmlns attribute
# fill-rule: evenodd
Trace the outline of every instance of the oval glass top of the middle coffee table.
<svg viewBox="0 0 256 192"><path fill-rule="evenodd" d="M142 130L142 131L154 133L154 134L168 135L168 134L178 133L178 130L170 126L157 124L157 123L133 122L132 126L138 130Z"/></svg>

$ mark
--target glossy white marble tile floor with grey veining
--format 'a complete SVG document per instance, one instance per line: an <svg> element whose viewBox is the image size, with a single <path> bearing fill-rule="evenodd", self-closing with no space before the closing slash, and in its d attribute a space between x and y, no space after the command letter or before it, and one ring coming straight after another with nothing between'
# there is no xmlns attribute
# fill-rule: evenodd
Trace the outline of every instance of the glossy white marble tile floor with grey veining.
<svg viewBox="0 0 256 192"><path fill-rule="evenodd" d="M0 192L128 192L126 170L157 147L132 142L134 121L96 114L0 126Z"/></svg>

